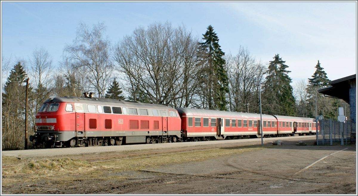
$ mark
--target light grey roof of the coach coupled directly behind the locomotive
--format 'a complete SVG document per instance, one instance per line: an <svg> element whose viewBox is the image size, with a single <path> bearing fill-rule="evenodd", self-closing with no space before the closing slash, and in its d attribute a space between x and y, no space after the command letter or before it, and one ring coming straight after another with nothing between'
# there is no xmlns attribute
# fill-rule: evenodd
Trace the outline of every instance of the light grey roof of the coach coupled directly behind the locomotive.
<svg viewBox="0 0 358 196"><path fill-rule="evenodd" d="M223 118L241 118L241 119L258 119L260 120L260 114L232 112L232 111L218 111L218 110L204 110L204 109L192 109L192 108L176 108L179 113L184 113L187 116L208 116L208 117L223 117ZM272 115L262 114L264 120L276 120Z"/></svg>

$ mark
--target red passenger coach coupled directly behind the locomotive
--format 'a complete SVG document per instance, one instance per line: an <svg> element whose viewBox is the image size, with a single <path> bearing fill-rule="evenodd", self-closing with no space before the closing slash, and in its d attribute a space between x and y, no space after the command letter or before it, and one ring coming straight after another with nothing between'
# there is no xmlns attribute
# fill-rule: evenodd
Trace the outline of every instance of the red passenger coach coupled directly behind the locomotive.
<svg viewBox="0 0 358 196"><path fill-rule="evenodd" d="M182 118L183 140L248 138L260 135L260 114L177 108ZM277 120L262 115L263 134L277 134Z"/></svg>

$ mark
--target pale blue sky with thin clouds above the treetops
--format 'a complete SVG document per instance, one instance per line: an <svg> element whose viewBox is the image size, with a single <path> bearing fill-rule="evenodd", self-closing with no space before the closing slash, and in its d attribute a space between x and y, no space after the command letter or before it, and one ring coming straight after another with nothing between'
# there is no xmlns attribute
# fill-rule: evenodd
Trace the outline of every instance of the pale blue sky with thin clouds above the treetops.
<svg viewBox="0 0 358 196"><path fill-rule="evenodd" d="M44 47L57 65L80 21L105 22L112 44L154 22L184 24L200 38L212 25L226 54L236 55L240 45L263 63L280 54L291 85L310 78L317 60L330 80L357 72L357 1L1 1L1 56L28 59Z"/></svg>

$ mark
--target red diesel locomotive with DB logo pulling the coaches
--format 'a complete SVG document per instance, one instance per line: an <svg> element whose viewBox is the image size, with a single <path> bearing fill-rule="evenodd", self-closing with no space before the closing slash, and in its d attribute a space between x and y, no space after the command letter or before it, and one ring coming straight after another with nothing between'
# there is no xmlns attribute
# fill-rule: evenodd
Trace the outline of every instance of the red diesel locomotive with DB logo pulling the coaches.
<svg viewBox="0 0 358 196"><path fill-rule="evenodd" d="M180 126L177 111L168 106L65 96L44 102L30 141L46 147L176 142Z"/></svg>

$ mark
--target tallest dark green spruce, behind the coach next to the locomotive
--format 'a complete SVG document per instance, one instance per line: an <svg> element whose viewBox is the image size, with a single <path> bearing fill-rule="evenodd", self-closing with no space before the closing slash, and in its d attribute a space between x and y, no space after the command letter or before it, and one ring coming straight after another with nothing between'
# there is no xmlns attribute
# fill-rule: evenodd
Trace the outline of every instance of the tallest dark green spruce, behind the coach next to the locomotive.
<svg viewBox="0 0 358 196"><path fill-rule="evenodd" d="M203 63L200 75L203 96L207 100L208 109L227 110L228 77L224 69L225 60L222 58L225 53L221 51L219 38L211 25L203 36L204 42L199 43Z"/></svg>

